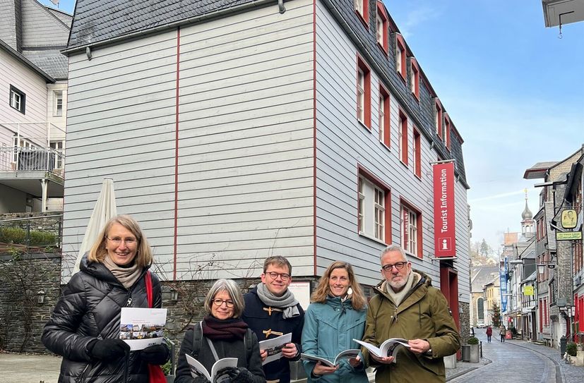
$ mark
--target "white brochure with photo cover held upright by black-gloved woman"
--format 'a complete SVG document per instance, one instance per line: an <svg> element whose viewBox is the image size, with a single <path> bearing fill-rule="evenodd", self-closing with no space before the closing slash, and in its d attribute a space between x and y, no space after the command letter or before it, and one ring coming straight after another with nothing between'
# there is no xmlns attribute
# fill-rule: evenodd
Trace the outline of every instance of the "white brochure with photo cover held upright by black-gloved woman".
<svg viewBox="0 0 584 383"><path fill-rule="evenodd" d="M165 308L121 308L119 339L132 351L162 344L166 312Z"/></svg>

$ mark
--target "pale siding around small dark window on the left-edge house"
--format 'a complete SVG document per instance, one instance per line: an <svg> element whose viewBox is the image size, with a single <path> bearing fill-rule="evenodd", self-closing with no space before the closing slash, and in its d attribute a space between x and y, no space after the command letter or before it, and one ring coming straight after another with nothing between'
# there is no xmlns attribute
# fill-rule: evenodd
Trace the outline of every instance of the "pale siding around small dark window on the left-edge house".
<svg viewBox="0 0 584 383"><path fill-rule="evenodd" d="M0 123L23 123L20 126L20 135L30 138L36 145L46 146L46 124L31 123L47 121L47 83L44 78L8 55L3 49L0 49L0 73L3 73L0 75L0 94L4 95L0 102ZM25 114L21 114L8 104L10 85L25 93ZM16 130L16 125L6 124L0 146L2 143L12 146L11 132L16 133Z"/></svg>

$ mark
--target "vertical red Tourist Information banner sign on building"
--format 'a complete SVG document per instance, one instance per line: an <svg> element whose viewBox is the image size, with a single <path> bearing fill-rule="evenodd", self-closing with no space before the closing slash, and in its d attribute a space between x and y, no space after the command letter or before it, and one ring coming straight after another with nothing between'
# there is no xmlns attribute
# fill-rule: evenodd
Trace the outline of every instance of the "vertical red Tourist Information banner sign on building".
<svg viewBox="0 0 584 383"><path fill-rule="evenodd" d="M434 164L434 253L456 256L454 162Z"/></svg>

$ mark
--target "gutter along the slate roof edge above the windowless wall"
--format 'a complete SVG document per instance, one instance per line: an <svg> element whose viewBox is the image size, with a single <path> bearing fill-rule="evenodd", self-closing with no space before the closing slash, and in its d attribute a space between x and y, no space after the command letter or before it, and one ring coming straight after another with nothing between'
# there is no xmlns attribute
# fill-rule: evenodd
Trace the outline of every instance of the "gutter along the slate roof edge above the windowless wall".
<svg viewBox="0 0 584 383"><path fill-rule="evenodd" d="M213 11L209 13L204 13L203 15L193 16L191 18L185 18L171 23L166 23L159 25L154 28L148 28L143 30L138 30L136 32L130 32L125 35L120 35L116 37L111 37L109 39L100 40L98 42L89 42L87 44L76 45L74 47L69 47L61 51L62 54L69 56L74 53L85 52L87 48L93 49L95 47L104 47L106 45L116 44L126 39L135 39L137 37L142 37L144 35L150 35L153 33L161 32L163 30L169 30L177 28L185 24L196 24L202 23L203 21L213 20L215 18L224 18L225 16L230 16L234 13L241 13L248 11L250 8L261 8L263 6L268 6L269 4L278 4L279 12L284 13L286 8L284 7L284 0L254 0L250 3L242 4L239 6L233 6L231 8L220 9L219 11Z"/></svg>

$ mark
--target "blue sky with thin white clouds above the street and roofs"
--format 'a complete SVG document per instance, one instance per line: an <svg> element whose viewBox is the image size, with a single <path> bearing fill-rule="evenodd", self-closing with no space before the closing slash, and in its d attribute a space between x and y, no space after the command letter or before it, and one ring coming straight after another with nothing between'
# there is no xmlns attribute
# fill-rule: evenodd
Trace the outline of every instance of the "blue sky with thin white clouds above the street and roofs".
<svg viewBox="0 0 584 383"><path fill-rule="evenodd" d="M584 144L584 22L559 39L540 0L385 3L465 140L472 241L498 248L503 232L520 231L523 189L537 212L540 180L525 169Z"/></svg>

